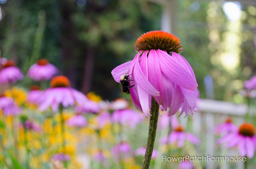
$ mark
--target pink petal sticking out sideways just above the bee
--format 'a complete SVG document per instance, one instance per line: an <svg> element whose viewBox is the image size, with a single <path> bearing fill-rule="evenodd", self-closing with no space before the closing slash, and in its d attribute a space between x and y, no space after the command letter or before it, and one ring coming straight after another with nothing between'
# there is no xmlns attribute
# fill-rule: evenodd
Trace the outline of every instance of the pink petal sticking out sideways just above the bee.
<svg viewBox="0 0 256 169"><path fill-rule="evenodd" d="M123 76L129 71L129 67L131 66L131 63L132 63L132 60L117 66L111 71L111 74L113 78L116 80L116 82L119 83L121 76Z"/></svg>

